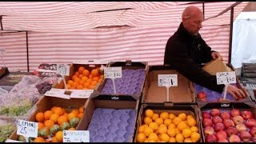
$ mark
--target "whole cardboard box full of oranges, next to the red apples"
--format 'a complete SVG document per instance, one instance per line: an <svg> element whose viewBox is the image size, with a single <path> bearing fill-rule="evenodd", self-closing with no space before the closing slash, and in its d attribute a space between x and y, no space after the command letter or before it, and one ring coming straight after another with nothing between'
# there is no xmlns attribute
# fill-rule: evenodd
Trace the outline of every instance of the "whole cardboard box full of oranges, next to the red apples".
<svg viewBox="0 0 256 144"><path fill-rule="evenodd" d="M146 110L153 110L154 114L158 114L158 116L155 117L155 115L153 115L153 117L150 117L149 115L147 115L148 117L146 117ZM169 118L164 116L164 113L166 113L167 114L166 116ZM172 116L170 116L170 115L172 115ZM166 117L167 120L161 120L164 117ZM189 117L193 117L194 120L191 120ZM146 118L152 119L152 122L149 125L146 124L146 121L148 121L148 120L146 120ZM181 121L179 121L178 120L179 118L187 118L187 119L186 120L180 119ZM169 122L168 122L168 119L169 119ZM164 125L166 125L166 128L162 128L163 129L162 132L160 132L160 128L159 128L160 126L162 126L161 121L163 122ZM167 142L183 142L183 141L185 141L184 136L182 136L183 139L182 138L180 139L180 137L182 134L181 130L184 130L184 128L188 129L188 127L184 127L184 126L188 126L188 124L186 124L187 123L186 121L190 121L190 127L193 126L193 130L194 130L194 125L198 127L197 134L192 134L193 133L192 132L191 134L193 136L190 135L190 137L188 137L188 135L186 135L186 137L190 138L190 140L192 140L192 142L202 142L201 127L200 127L201 125L199 123L200 121L199 121L199 117L198 117L198 106L196 106L196 105L178 105L178 104L177 105L174 104L174 106L166 106L164 104L155 104L154 105L154 104L143 103L139 110L139 113L138 113L138 121L137 121L137 126L136 126L136 133L134 135L134 142L140 142L140 141L142 142L143 140L144 140L144 142L166 142L166 141ZM154 134L158 135L158 140L154 139L153 137L150 138L150 133L149 133L150 130L146 130L145 127L144 127L144 130L142 130L143 128L140 128L140 127L143 127L142 125L148 125L150 128L152 128L152 126L154 126L152 123L158 123L158 126L157 126L158 130L157 129L154 130ZM159 124L161 124L161 125L159 125ZM165 127L165 126L162 126L162 127ZM164 129L166 129L166 130L164 130ZM172 130L174 129L175 131L171 132L171 129ZM176 130L176 129L178 129L178 130ZM192 130L192 129L190 129L190 130ZM179 131L180 134L178 134L177 131ZM184 131L186 131L186 130L184 130ZM140 137L140 136L138 136L138 134L143 135L143 133L145 135L149 134L149 135L146 135L146 139L138 138L138 137ZM165 136L165 138L162 138L163 137L162 133L165 133L165 135L167 134L168 136ZM152 135L154 135L154 134L152 134ZM176 138L176 136L177 136L177 138Z"/></svg>

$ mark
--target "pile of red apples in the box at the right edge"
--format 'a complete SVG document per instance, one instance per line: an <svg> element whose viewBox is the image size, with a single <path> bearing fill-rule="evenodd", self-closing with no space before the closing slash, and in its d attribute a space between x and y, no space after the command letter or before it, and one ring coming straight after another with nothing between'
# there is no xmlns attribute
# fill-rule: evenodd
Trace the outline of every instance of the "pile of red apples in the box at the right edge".
<svg viewBox="0 0 256 144"><path fill-rule="evenodd" d="M202 112L205 142L256 142L256 119L250 110Z"/></svg>

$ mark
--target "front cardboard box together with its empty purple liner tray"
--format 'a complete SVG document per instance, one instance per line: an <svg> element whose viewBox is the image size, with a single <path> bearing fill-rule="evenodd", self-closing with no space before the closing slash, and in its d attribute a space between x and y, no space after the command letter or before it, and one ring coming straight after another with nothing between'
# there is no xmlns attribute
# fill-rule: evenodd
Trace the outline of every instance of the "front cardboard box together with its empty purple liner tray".
<svg viewBox="0 0 256 144"><path fill-rule="evenodd" d="M90 142L133 142L138 101L89 98L78 130L90 131Z"/></svg>

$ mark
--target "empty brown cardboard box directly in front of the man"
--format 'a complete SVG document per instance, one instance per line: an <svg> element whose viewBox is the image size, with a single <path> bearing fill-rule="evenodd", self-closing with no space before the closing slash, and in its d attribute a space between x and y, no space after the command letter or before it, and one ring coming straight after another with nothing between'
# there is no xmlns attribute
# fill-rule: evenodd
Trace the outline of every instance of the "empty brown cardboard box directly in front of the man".
<svg viewBox="0 0 256 144"><path fill-rule="evenodd" d="M192 82L173 70L170 66L150 66L142 94L142 103L167 102L165 86L158 86L158 74L178 74L178 86L170 86L169 103L194 104L194 87Z"/></svg>

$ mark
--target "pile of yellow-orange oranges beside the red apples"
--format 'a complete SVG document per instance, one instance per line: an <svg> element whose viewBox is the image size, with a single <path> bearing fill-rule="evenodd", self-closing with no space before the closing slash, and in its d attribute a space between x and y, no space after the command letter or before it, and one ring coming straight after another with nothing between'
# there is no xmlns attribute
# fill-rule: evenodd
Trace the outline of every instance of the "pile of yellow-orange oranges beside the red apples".
<svg viewBox="0 0 256 144"><path fill-rule="evenodd" d="M160 114L146 110L144 124L138 127L137 142L199 142L197 122L193 115Z"/></svg>

